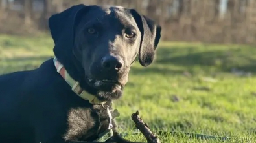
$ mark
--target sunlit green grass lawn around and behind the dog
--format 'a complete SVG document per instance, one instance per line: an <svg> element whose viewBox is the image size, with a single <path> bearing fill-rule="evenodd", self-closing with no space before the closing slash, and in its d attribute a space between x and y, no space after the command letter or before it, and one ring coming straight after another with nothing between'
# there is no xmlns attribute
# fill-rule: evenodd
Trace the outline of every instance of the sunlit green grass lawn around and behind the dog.
<svg viewBox="0 0 256 143"><path fill-rule="evenodd" d="M37 68L52 47L49 37L1 35L0 74ZM134 64L124 96L115 102L120 131L135 129L130 115L139 110L151 129L180 132L160 135L161 142L255 142L255 55L252 46L161 42L154 64ZM183 132L231 139L198 140Z"/></svg>

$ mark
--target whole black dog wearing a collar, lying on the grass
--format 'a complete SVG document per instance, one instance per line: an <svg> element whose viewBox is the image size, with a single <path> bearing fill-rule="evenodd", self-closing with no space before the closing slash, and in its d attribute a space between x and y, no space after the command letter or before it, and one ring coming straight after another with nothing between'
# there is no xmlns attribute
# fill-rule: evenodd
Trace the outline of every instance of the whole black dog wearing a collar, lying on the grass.
<svg viewBox="0 0 256 143"><path fill-rule="evenodd" d="M134 9L76 5L52 15L49 27L56 59L0 77L0 142L129 143L111 103L137 56L152 63L161 26Z"/></svg>

